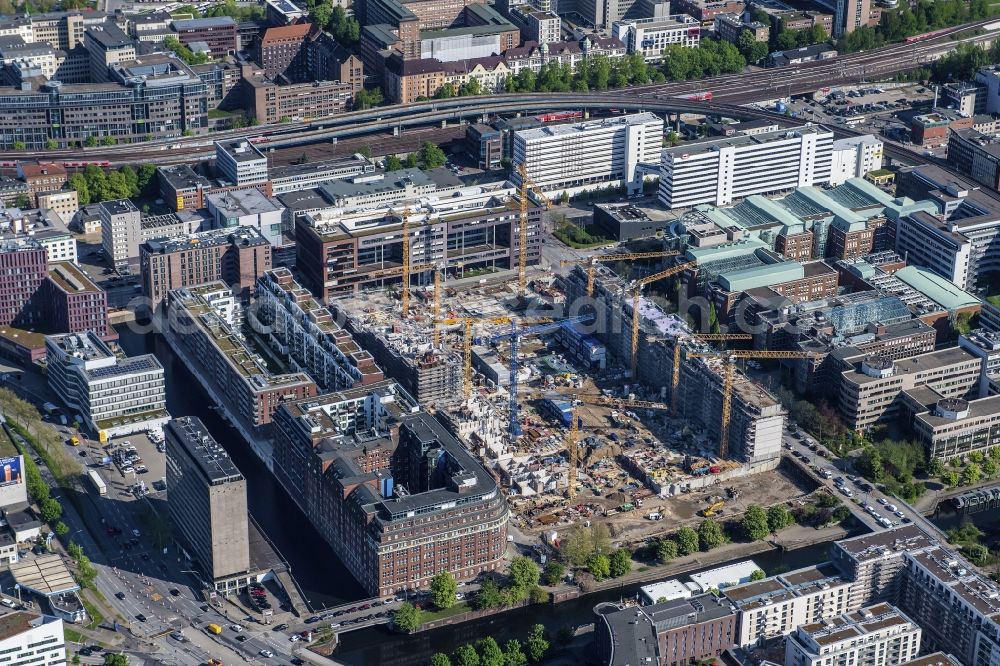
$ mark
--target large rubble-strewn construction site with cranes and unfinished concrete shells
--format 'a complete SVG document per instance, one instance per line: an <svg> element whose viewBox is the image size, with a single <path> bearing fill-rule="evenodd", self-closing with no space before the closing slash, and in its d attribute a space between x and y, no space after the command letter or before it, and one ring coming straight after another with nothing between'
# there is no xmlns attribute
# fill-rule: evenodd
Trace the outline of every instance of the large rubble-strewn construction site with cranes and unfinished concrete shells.
<svg viewBox="0 0 1000 666"><path fill-rule="evenodd" d="M668 314L643 289L665 291L689 267L675 255L600 255L565 274L522 265L490 286L433 270L426 286L330 307L479 456L523 532L599 517L641 540L809 491L778 469L785 410L740 370L803 354L752 351L749 335L700 334ZM609 267L625 264L642 277Z"/></svg>

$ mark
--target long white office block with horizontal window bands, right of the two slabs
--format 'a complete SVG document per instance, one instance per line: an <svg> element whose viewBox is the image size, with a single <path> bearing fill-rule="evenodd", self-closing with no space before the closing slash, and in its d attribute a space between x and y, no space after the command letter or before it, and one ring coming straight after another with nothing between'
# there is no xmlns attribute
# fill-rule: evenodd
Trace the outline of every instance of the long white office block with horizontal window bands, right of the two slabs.
<svg viewBox="0 0 1000 666"><path fill-rule="evenodd" d="M830 182L833 133L805 126L710 139L663 150L660 201L667 208L728 206L753 194Z"/></svg>

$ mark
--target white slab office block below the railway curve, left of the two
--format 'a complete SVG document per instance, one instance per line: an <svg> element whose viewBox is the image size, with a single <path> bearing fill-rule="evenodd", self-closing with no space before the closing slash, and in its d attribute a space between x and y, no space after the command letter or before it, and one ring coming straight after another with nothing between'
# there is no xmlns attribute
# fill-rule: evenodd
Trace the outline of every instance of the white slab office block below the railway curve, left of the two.
<svg viewBox="0 0 1000 666"><path fill-rule="evenodd" d="M544 192L624 185L635 194L642 192L640 165L658 161L663 119L647 112L538 127L515 132L512 145L514 173L524 164Z"/></svg>

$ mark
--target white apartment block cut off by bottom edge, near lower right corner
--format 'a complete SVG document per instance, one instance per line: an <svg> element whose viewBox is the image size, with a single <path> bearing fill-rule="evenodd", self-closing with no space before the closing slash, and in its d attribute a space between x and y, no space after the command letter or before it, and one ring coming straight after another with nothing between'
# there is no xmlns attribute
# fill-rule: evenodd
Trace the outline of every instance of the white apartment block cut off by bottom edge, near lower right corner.
<svg viewBox="0 0 1000 666"><path fill-rule="evenodd" d="M800 626L785 643L785 666L896 666L919 651L920 627L883 603Z"/></svg>

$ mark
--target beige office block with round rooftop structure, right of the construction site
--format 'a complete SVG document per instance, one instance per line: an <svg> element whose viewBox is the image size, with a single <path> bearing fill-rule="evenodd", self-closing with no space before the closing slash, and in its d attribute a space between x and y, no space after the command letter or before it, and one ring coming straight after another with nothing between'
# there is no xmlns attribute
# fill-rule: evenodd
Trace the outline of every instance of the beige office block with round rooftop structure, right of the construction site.
<svg viewBox="0 0 1000 666"><path fill-rule="evenodd" d="M863 432L895 419L904 391L927 386L943 398L966 398L978 390L981 365L959 347L897 361L865 357L841 375L840 416L852 430Z"/></svg>

